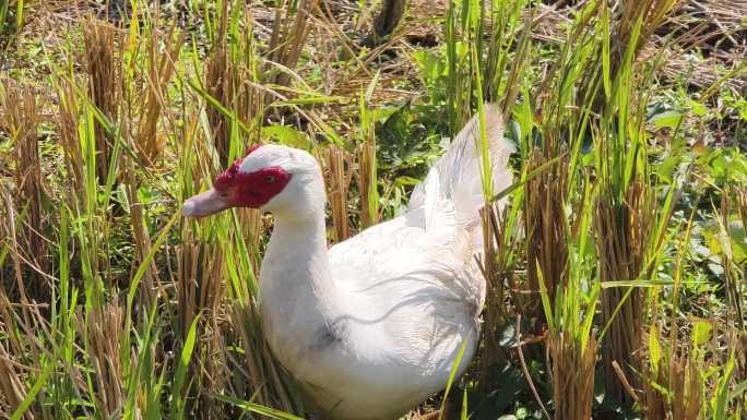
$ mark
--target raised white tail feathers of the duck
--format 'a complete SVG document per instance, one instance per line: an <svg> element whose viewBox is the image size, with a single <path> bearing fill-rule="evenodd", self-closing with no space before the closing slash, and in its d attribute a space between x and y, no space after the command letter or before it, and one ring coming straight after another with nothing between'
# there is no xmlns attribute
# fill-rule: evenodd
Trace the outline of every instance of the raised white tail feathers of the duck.
<svg viewBox="0 0 747 420"><path fill-rule="evenodd" d="M503 137L503 119L495 104L485 105L485 131L495 193L511 184L508 159L513 144ZM453 205L456 220L472 223L485 204L483 191L482 146L478 116L473 116L454 137L447 153L430 169L411 197L410 209L429 207L427 202L447 200Z"/></svg>

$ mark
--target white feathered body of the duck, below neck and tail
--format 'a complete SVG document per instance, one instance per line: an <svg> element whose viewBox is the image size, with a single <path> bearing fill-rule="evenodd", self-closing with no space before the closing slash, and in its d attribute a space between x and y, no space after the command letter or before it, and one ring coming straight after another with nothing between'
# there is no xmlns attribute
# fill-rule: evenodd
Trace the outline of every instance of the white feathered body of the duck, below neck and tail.
<svg viewBox="0 0 747 420"><path fill-rule="evenodd" d="M449 252L458 247L453 229L429 232L420 218L408 212L332 247L335 302L311 310L306 298L289 299L296 293L283 281L299 269L290 244L283 237L270 244L260 275L263 329L278 332L265 333L271 349L324 419L396 419L443 388L462 345L459 374L474 353L478 273L469 256Z"/></svg>

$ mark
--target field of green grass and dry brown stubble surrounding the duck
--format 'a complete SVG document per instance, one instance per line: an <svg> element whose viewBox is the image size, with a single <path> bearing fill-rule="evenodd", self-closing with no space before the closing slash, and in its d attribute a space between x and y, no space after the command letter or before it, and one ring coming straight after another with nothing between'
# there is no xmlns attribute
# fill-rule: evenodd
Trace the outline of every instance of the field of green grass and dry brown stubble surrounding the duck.
<svg viewBox="0 0 747 420"><path fill-rule="evenodd" d="M272 217L181 203L305 148L335 243L485 103L481 347L406 418L747 419L747 5L403 3L0 0L0 419L309 418L259 322Z"/></svg>

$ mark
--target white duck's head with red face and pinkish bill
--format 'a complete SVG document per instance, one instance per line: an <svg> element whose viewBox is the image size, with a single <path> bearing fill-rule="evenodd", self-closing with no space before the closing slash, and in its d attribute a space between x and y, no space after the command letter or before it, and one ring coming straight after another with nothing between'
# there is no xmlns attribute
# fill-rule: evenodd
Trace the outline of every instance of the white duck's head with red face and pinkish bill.
<svg viewBox="0 0 747 420"><path fill-rule="evenodd" d="M280 145L259 145L221 173L213 188L187 200L187 217L204 217L230 207L261 208L271 213L304 214L316 207L321 184L317 160L308 153Z"/></svg>

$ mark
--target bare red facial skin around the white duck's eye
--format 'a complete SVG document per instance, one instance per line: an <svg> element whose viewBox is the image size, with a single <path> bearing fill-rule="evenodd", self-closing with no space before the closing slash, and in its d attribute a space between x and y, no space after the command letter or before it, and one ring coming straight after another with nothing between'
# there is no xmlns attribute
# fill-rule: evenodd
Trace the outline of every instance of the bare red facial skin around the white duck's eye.
<svg viewBox="0 0 747 420"><path fill-rule="evenodd" d="M259 147L259 144L251 146L247 156ZM242 160L234 161L214 182L215 191L230 206L259 208L283 191L290 180L290 173L280 167L262 168L250 173L240 172Z"/></svg>

